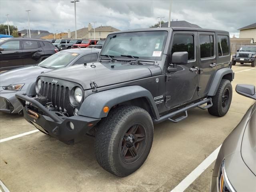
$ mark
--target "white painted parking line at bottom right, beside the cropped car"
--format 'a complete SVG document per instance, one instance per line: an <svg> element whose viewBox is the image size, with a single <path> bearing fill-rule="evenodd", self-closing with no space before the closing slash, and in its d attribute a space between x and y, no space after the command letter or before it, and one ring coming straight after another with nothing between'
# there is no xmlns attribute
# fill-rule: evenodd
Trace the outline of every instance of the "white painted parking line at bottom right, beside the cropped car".
<svg viewBox="0 0 256 192"><path fill-rule="evenodd" d="M210 164L212 164L212 162L214 162L214 160L216 160L219 150L220 150L220 147L221 147L221 145L218 148L216 148L216 150L214 150L214 152L212 152L188 176L186 176L186 178L184 178L173 190L171 190L171 192L182 192L186 188L188 188L188 186L190 186L190 184L192 184L192 182L194 182L194 180L196 180L196 178L198 178L198 176L200 176L200 174L202 174L202 172L204 172L204 170L206 170L208 168L208 166L210 166Z"/></svg>

